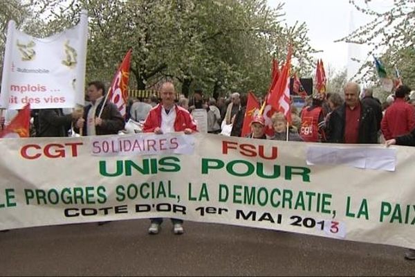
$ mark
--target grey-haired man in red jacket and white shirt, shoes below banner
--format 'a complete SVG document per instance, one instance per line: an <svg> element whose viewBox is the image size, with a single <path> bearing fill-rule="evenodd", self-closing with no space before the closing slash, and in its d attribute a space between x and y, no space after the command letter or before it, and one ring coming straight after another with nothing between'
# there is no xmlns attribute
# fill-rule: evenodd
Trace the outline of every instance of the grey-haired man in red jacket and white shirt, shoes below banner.
<svg viewBox="0 0 415 277"><path fill-rule="evenodd" d="M154 134L165 134L170 132L185 132L192 134L197 127L189 111L174 104L176 90L172 82L165 82L160 89L161 103L150 110L145 119L143 132L154 132ZM151 218L149 234L157 234L163 218ZM172 218L173 231L176 235L183 233L183 220Z"/></svg>

